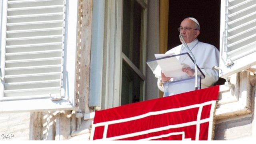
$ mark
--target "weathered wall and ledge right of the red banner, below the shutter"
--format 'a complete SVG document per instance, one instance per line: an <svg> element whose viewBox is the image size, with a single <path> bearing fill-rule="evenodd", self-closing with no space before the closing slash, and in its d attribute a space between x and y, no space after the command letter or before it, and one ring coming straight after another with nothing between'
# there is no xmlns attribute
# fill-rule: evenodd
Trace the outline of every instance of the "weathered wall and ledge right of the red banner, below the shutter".
<svg viewBox="0 0 256 144"><path fill-rule="evenodd" d="M256 76L248 71L239 72L233 91L223 95L229 99L219 106L214 140L252 139L255 136L255 82ZM228 94L228 95L227 95ZM226 106L225 106L226 105Z"/></svg>

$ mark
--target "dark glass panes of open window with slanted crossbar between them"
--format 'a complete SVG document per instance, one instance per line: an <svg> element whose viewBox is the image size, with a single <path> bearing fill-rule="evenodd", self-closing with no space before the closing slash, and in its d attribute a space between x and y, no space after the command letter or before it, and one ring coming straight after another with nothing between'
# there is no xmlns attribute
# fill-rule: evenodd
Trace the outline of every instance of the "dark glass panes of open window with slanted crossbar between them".
<svg viewBox="0 0 256 144"><path fill-rule="evenodd" d="M140 1L144 3L143 1ZM122 21L121 105L144 100L144 8L136 0L124 0Z"/></svg>

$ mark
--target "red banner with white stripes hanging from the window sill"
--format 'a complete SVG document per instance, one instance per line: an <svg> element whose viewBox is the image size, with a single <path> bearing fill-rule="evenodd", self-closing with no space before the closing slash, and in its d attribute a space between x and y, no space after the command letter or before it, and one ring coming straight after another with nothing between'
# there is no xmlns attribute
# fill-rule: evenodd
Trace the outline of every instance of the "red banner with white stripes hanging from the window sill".
<svg viewBox="0 0 256 144"><path fill-rule="evenodd" d="M219 86L95 112L91 140L211 140Z"/></svg>

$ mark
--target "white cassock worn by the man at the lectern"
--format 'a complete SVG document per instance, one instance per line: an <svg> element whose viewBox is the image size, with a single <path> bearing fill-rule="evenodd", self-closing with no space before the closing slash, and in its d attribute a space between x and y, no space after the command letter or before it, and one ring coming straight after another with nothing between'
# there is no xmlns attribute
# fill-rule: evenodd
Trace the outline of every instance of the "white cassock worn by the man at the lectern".
<svg viewBox="0 0 256 144"><path fill-rule="evenodd" d="M218 76L218 70L214 69L214 66L219 66L219 56L220 52L218 49L211 45L204 42L199 42L198 39L194 40L193 42L190 42L188 44L189 49L194 54L194 57L196 58L196 64L202 71L202 73L205 75L205 78L201 80L201 88L207 88L209 86L212 86L215 82L217 82L219 76ZM175 48L172 48L171 50L168 50L166 54L174 53L174 54L181 54L181 53L189 53L187 48L181 44L179 46L176 46ZM185 63L191 66L191 59L188 56L180 56L177 57L180 63ZM193 58L193 57L192 57ZM193 68L193 67L191 67ZM156 78L158 78L158 88L164 92L164 86L161 84L161 76L155 75ZM195 81L191 81L195 83ZM177 86L176 86L177 85ZM168 94L164 94L164 96L169 96L177 93L184 92L184 88L188 87L186 84L176 84L174 86L176 92L172 92L171 89L169 89ZM195 84L193 84L194 86ZM190 86L191 87L191 86ZM194 89L194 87L192 88ZM173 90L173 88L172 88ZM180 92L179 92L180 91Z"/></svg>

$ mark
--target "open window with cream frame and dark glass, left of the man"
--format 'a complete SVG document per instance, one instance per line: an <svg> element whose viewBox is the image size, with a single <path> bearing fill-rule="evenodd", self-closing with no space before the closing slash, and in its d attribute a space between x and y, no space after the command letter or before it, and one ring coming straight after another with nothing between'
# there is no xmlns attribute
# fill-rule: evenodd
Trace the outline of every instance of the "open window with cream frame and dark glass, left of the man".
<svg viewBox="0 0 256 144"><path fill-rule="evenodd" d="M101 109L144 100L147 6L147 0L105 1L101 99L91 102Z"/></svg>

